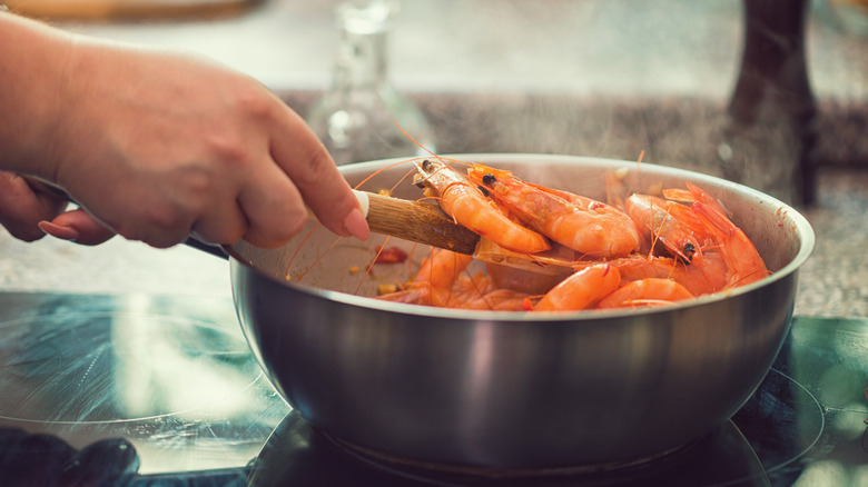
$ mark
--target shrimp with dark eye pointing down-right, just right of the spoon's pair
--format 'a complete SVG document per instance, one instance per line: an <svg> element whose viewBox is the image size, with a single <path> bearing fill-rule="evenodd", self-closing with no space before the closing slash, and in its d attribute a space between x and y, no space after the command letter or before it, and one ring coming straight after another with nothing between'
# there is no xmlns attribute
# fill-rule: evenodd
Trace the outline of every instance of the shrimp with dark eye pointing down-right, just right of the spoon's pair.
<svg viewBox="0 0 868 487"><path fill-rule="evenodd" d="M630 195L627 213L653 245L662 244L685 262L702 259L702 244L709 237L703 222L684 205L649 195Z"/></svg>

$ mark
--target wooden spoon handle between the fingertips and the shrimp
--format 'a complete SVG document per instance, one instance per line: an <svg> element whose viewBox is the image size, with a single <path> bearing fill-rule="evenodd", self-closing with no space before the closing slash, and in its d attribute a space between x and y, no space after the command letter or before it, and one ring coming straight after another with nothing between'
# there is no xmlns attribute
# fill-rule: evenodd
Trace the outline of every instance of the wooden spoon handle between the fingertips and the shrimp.
<svg viewBox="0 0 868 487"><path fill-rule="evenodd" d="M480 236L455 225L440 207L373 192L355 192L371 231L468 256L476 250Z"/></svg>

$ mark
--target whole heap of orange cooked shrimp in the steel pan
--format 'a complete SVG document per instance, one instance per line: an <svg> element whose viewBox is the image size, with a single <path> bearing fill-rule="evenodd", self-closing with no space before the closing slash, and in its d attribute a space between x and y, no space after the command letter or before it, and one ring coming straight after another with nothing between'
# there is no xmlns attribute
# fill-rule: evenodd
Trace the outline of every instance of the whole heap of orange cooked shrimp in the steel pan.
<svg viewBox="0 0 868 487"><path fill-rule="evenodd" d="M437 250L402 290L379 299L524 311L668 306L768 275L724 207L689 182L687 190L664 189L667 199L632 195L621 209L482 165L466 177L441 159L417 168L426 193L483 236L475 258L487 274L467 271L474 257ZM526 265L494 265L511 259ZM566 277L570 267L575 272Z"/></svg>

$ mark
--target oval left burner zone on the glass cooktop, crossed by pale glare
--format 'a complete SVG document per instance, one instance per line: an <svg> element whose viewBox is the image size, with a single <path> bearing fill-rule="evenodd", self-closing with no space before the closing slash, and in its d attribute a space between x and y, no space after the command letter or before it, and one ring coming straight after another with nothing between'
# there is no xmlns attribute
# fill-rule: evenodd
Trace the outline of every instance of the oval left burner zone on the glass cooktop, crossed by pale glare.
<svg viewBox="0 0 868 487"><path fill-rule="evenodd" d="M3 324L0 417L109 423L220 414L259 379L243 340L167 316L81 312ZM194 414L195 415L195 414Z"/></svg>

